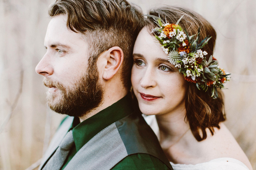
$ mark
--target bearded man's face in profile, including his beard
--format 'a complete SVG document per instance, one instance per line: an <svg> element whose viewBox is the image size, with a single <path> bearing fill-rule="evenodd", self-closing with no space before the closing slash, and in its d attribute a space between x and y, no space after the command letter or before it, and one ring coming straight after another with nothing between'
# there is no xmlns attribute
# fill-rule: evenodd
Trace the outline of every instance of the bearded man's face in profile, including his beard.
<svg viewBox="0 0 256 170"><path fill-rule="evenodd" d="M95 61L88 63L88 43L81 33L67 28L67 16L58 15L50 21L46 36L46 54L35 68L45 76L49 87L49 107L58 113L82 116L102 100Z"/></svg>

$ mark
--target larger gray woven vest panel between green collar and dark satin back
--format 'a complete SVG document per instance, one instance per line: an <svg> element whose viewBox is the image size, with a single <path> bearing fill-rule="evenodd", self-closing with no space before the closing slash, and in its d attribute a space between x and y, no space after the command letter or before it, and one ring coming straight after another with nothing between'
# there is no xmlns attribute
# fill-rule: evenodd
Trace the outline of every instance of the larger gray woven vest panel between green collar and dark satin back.
<svg viewBox="0 0 256 170"><path fill-rule="evenodd" d="M116 123L110 124L71 159L64 170L109 170L127 156Z"/></svg>

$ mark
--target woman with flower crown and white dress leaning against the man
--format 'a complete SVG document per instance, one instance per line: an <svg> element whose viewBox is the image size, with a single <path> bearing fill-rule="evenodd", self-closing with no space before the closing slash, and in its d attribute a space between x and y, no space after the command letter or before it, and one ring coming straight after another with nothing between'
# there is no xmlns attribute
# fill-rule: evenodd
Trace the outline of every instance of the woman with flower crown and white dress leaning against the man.
<svg viewBox="0 0 256 170"><path fill-rule="evenodd" d="M222 123L220 88L229 77L212 57L215 39L199 14L164 7L150 12L135 42L133 91L142 113L155 115L174 169L252 169Z"/></svg>

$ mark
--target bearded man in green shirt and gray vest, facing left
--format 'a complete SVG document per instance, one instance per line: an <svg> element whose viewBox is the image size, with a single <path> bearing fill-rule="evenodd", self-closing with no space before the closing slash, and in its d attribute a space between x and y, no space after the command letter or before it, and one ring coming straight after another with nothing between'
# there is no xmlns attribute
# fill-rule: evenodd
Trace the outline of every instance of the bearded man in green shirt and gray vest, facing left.
<svg viewBox="0 0 256 170"><path fill-rule="evenodd" d="M125 0L57 0L49 15L35 70L49 107L69 116L39 169L172 169L128 94L141 13Z"/></svg>

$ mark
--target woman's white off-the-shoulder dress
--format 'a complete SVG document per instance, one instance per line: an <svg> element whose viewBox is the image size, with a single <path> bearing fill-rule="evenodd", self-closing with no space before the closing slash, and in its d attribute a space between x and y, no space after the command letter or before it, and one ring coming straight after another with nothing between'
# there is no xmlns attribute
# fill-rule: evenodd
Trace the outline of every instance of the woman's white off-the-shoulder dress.
<svg viewBox="0 0 256 170"><path fill-rule="evenodd" d="M155 116L145 116L144 119L148 125L153 129L154 133L159 135L159 128ZM249 170L247 166L241 161L234 158L217 158L209 162L198 163L196 165L174 164L170 162L173 170Z"/></svg>

